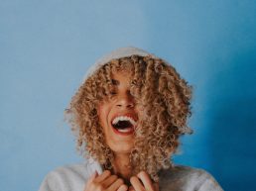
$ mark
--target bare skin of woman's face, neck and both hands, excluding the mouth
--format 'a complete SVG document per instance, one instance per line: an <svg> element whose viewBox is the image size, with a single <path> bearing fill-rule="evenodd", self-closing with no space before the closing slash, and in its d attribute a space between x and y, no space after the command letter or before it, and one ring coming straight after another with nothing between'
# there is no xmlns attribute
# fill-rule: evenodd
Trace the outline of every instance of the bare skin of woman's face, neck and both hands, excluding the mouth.
<svg viewBox="0 0 256 191"><path fill-rule="evenodd" d="M94 173L86 183L84 191L158 191L158 183L153 183L147 172L141 171L136 176L132 176L132 169L129 164L129 153L133 147L134 135L117 135L111 127L111 119L116 114L131 114L137 116L137 108L134 98L130 94L129 72L115 72L112 74L116 91L113 92L111 100L104 100L98 107L100 125L103 128L105 140L114 152L114 174L105 170L102 174ZM120 177L119 178L117 175ZM124 182L129 181L131 186Z"/></svg>

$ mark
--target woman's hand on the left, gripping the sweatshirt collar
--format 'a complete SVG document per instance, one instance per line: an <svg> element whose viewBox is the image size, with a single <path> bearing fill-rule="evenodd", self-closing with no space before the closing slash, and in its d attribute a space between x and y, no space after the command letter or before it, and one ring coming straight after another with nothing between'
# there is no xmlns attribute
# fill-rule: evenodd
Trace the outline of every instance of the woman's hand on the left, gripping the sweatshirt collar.
<svg viewBox="0 0 256 191"><path fill-rule="evenodd" d="M93 173L88 179L84 191L126 191L128 187L121 178L111 175L109 170L105 170L98 175Z"/></svg>

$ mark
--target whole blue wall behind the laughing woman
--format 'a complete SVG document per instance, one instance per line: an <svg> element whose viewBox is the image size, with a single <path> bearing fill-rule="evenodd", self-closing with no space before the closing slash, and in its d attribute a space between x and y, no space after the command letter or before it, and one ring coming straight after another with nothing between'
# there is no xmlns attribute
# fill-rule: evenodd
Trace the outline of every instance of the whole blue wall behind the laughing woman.
<svg viewBox="0 0 256 191"><path fill-rule="evenodd" d="M256 2L0 1L0 186L38 190L81 161L63 112L89 64L134 46L161 56L194 87L177 163L224 190L255 190Z"/></svg>

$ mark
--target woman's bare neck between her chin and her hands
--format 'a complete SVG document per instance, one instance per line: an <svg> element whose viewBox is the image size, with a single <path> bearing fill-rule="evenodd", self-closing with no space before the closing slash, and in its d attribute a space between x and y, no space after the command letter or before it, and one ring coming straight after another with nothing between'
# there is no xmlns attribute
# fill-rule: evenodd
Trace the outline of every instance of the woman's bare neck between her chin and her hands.
<svg viewBox="0 0 256 191"><path fill-rule="evenodd" d="M125 182L129 181L132 176L129 153L115 153L114 156L114 173L123 178Z"/></svg>

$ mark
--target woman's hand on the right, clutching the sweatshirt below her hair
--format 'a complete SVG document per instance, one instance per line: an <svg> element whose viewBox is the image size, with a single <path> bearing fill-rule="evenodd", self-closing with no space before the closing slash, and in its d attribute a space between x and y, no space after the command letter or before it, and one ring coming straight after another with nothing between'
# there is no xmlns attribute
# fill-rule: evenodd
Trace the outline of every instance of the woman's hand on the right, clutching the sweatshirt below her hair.
<svg viewBox="0 0 256 191"><path fill-rule="evenodd" d="M145 171L139 172L137 176L132 176L130 182L132 186L129 187L129 191L159 191L159 184L153 183Z"/></svg>

